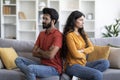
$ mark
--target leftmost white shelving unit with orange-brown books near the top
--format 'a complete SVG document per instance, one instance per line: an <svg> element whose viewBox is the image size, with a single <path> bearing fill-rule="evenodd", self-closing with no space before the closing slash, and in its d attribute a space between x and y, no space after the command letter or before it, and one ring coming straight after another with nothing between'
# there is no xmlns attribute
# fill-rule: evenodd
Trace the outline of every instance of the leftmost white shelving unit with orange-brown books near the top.
<svg viewBox="0 0 120 80"><path fill-rule="evenodd" d="M1 37L16 39L16 1L9 3L1 0Z"/></svg>

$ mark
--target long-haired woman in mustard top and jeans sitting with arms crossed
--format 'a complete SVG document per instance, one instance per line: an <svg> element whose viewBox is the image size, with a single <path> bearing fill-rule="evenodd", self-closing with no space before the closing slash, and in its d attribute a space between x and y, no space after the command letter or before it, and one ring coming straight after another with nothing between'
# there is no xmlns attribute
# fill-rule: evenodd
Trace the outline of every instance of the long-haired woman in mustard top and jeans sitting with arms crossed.
<svg viewBox="0 0 120 80"><path fill-rule="evenodd" d="M67 19L63 31L63 54L66 56L65 72L85 80L102 80L102 72L109 67L108 60L87 62L86 55L94 50L84 32L84 14L74 11Z"/></svg>

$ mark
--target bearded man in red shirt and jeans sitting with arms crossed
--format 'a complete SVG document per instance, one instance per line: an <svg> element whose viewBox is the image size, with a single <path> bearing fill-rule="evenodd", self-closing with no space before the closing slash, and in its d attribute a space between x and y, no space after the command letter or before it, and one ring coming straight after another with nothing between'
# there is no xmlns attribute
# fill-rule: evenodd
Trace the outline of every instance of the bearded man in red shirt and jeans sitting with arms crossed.
<svg viewBox="0 0 120 80"><path fill-rule="evenodd" d="M43 9L43 28L33 48L33 56L41 59L41 63L18 57L15 62L25 73L27 80L36 80L37 77L60 75L62 72L62 34L55 28L58 13L53 8Z"/></svg>

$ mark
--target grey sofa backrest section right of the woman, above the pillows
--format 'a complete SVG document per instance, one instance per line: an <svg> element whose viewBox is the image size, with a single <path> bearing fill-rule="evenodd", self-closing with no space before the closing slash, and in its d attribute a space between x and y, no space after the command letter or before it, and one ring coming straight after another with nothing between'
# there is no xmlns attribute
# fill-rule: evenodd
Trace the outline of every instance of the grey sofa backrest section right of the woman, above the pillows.
<svg viewBox="0 0 120 80"><path fill-rule="evenodd" d="M94 45L115 45L115 46L120 46L120 37L107 37L107 38L91 38L91 41L93 42Z"/></svg>

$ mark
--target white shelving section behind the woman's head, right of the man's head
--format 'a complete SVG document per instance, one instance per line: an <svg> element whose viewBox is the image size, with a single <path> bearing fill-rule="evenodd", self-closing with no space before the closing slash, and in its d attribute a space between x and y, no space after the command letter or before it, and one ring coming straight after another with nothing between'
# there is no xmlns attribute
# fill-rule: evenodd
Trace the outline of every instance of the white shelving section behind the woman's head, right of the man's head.
<svg viewBox="0 0 120 80"><path fill-rule="evenodd" d="M79 10L85 14L84 28L89 37L95 36L95 0L61 0L60 1L60 31L63 31L70 13Z"/></svg>

